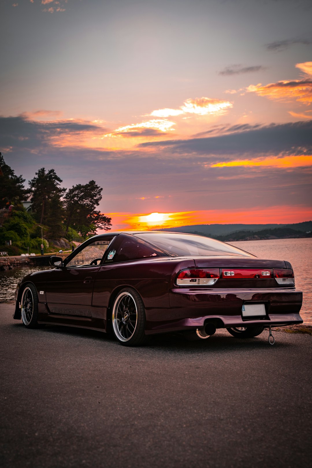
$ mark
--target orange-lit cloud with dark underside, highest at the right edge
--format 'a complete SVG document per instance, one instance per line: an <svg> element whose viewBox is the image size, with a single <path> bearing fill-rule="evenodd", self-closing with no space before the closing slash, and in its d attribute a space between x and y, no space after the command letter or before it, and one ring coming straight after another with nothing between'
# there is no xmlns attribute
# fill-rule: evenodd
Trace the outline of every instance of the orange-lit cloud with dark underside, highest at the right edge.
<svg viewBox="0 0 312 468"><path fill-rule="evenodd" d="M312 62L297 63L296 67L308 75L312 74ZM310 79L282 80L264 86L259 83L249 85L246 90L249 93L256 93L259 96L265 96L277 101L296 99L296 101L304 104L312 102L312 80Z"/></svg>

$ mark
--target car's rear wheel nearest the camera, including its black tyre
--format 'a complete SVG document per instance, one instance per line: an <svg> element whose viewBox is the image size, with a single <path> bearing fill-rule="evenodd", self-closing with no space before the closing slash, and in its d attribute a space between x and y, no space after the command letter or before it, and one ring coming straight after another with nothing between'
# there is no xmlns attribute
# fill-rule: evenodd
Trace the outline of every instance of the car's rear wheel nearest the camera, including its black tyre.
<svg viewBox="0 0 312 468"><path fill-rule="evenodd" d="M113 332L119 343L136 346L145 341L145 308L138 292L124 288L117 295L112 309Z"/></svg>

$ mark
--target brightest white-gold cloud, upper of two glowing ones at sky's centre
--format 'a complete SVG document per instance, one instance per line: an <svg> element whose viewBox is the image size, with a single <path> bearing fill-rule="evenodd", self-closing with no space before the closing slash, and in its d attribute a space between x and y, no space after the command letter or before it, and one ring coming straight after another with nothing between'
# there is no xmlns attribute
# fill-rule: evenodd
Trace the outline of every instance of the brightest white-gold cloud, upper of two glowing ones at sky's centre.
<svg viewBox="0 0 312 468"><path fill-rule="evenodd" d="M181 114L208 115L224 114L225 111L233 107L232 102L222 101L220 99L210 99L209 97L200 97L196 99L187 99L179 109L158 109L150 114L153 117L169 117Z"/></svg>

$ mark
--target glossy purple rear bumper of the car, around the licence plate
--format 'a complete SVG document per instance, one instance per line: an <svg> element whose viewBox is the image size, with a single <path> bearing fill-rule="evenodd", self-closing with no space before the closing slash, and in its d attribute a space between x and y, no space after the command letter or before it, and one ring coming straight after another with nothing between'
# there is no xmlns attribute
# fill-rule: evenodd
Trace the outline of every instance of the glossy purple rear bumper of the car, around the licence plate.
<svg viewBox="0 0 312 468"><path fill-rule="evenodd" d="M276 289L185 289L177 288L169 292L170 309L167 320L161 317L147 321L147 334L166 331L191 330L202 328L205 323L213 323L216 328L248 327L254 325L282 326L303 323L299 315L302 306L302 292L295 288ZM265 317L245 318L241 310L243 304L261 303L265 305Z"/></svg>

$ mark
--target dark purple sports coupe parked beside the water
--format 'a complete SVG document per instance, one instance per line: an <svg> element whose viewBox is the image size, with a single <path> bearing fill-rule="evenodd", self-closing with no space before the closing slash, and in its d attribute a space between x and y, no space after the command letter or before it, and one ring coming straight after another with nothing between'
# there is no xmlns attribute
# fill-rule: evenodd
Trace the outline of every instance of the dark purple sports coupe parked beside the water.
<svg viewBox="0 0 312 468"><path fill-rule="evenodd" d="M238 338L302 323L291 264L193 234L115 232L88 239L17 285L14 318L107 332L126 346L155 333Z"/></svg>

